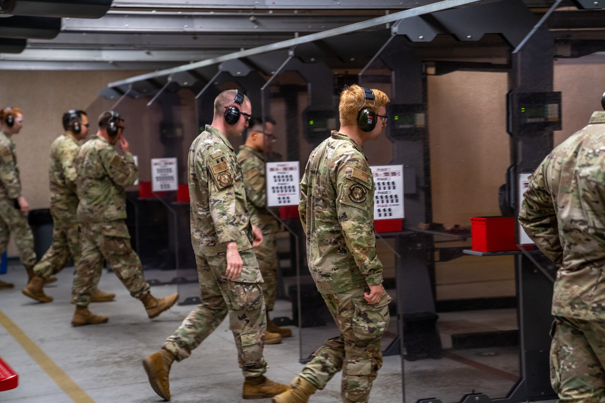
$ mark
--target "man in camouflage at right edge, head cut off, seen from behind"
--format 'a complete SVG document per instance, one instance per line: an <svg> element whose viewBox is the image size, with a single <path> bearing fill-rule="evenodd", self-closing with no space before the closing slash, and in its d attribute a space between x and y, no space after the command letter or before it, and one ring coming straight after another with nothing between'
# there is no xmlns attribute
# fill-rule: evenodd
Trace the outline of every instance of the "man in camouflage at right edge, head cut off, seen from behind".
<svg viewBox="0 0 605 403"><path fill-rule="evenodd" d="M560 265L551 384L560 401L605 399L605 112L555 148L530 178L519 221Z"/></svg>

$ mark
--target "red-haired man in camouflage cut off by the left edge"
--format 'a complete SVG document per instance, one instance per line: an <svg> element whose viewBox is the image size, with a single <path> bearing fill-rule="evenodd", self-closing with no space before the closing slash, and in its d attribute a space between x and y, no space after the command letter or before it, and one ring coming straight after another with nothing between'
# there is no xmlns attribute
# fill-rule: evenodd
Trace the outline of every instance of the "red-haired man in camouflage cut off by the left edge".
<svg viewBox="0 0 605 403"><path fill-rule="evenodd" d="M0 121L0 255L6 251L10 234L13 234L29 281L33 277L36 252L34 237L27 223L29 205L21 195L17 154L11 139L23 126L23 114L18 108L5 108L0 111ZM8 122L12 123L9 125ZM13 284L0 281L0 289L12 287Z"/></svg>

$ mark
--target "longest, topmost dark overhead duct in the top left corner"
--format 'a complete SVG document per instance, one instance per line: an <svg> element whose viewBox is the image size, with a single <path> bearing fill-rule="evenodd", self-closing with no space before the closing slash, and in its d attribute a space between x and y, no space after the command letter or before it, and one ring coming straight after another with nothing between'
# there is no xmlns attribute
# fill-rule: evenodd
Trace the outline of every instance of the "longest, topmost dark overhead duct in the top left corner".
<svg viewBox="0 0 605 403"><path fill-rule="evenodd" d="M58 18L101 18L111 0L1 0L2 10L11 15Z"/></svg>

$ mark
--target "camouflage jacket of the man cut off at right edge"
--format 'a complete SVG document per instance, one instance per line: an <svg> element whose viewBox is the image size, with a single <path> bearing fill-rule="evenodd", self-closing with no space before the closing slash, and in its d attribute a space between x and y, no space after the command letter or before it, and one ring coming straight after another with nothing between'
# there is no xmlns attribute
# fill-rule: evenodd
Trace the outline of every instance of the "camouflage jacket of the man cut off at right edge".
<svg viewBox="0 0 605 403"><path fill-rule="evenodd" d="M605 112L532 174L519 221L558 269L552 314L605 321Z"/></svg>

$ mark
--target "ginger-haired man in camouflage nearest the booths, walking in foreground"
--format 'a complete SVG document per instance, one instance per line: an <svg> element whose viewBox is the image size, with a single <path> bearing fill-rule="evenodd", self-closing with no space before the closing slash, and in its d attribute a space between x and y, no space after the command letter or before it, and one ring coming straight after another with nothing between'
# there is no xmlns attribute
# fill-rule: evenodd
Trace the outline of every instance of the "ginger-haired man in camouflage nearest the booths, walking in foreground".
<svg viewBox="0 0 605 403"><path fill-rule="evenodd" d="M370 106L384 115L388 97L378 90L374 94ZM294 380L293 389L273 402L307 402L340 370L342 401L367 402L382 367L380 342L390 321L391 298L382 288L374 235L374 180L361 145L376 139L386 122L376 124L370 133L361 131L356 114L362 105L361 87L343 91L341 130L311 152L300 183L298 211L307 235L309 270L340 335L328 339Z"/></svg>

